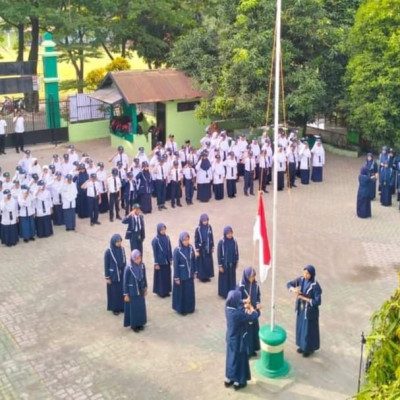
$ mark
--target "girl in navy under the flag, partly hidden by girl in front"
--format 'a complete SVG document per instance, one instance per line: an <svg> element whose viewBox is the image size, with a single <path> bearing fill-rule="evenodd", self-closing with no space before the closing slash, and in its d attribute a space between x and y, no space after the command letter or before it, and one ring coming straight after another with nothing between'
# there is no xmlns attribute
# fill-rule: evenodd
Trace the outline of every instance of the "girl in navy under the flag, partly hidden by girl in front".
<svg viewBox="0 0 400 400"><path fill-rule="evenodd" d="M245 302L250 303L254 310L257 311L258 316L260 316L260 286L256 281L256 271L254 268L247 267L244 269L242 279L239 283L239 290L242 293L242 299ZM260 325L258 319L247 325L247 340L250 357L256 356L256 352L260 350L260 338L258 337L259 330Z"/></svg>

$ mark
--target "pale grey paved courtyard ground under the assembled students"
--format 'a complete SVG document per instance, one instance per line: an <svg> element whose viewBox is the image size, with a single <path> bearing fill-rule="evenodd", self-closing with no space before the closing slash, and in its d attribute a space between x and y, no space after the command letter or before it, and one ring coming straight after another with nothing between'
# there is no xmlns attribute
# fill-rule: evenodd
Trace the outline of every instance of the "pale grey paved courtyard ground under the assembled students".
<svg viewBox="0 0 400 400"><path fill-rule="evenodd" d="M114 152L108 140L76 147L96 161L107 161ZM65 152L63 146L31 150L42 165L53 153ZM7 153L0 165L13 171L19 155ZM101 215L100 226L78 220L77 232L55 227L52 238L0 248L0 399L349 399L357 390L361 332L368 332L370 315L397 287L400 268L398 203L384 208L374 201L372 219L356 217L363 162L328 153L322 184L278 193L276 321L287 330L285 356L291 365L285 385L253 377L240 392L224 388L224 302L217 297L216 279L196 282L196 312L186 317L172 311L171 298L150 290L144 332L123 328L123 316L106 311L103 253L111 235L125 229ZM179 233L193 234L206 212L216 240L225 225L233 226L238 277L252 264L257 201L244 197L242 185L236 199L145 216L150 289L150 242L158 222L167 225L175 246ZM264 198L271 235L272 193ZM304 359L296 353L294 298L286 282L307 264L317 269L323 297L321 350ZM270 287L269 277L261 286L261 324L269 323Z"/></svg>

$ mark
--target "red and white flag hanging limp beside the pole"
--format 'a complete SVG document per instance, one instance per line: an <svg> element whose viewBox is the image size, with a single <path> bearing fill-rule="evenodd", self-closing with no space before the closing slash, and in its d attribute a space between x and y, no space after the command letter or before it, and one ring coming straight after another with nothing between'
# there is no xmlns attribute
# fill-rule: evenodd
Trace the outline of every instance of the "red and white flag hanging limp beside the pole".
<svg viewBox="0 0 400 400"><path fill-rule="evenodd" d="M258 214L253 230L253 241L258 240L258 260L260 270L260 281L264 282L271 268L271 253L267 234L267 221L265 220L264 200L260 194L258 197Z"/></svg>

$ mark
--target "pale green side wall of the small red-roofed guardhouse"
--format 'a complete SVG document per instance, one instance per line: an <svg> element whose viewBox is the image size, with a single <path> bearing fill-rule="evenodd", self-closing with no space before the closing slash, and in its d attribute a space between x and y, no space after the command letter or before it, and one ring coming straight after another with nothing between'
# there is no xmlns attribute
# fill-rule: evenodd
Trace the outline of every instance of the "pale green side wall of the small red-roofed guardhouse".
<svg viewBox="0 0 400 400"><path fill-rule="evenodd" d="M165 103L166 112L166 139L169 134L175 135L175 141L179 147L185 144L185 140L190 139L194 147L199 146L200 139L204 136L204 130L210 121L200 121L195 118L195 111L177 111L178 103L186 103L185 101L168 101ZM195 101L195 100L193 100Z"/></svg>

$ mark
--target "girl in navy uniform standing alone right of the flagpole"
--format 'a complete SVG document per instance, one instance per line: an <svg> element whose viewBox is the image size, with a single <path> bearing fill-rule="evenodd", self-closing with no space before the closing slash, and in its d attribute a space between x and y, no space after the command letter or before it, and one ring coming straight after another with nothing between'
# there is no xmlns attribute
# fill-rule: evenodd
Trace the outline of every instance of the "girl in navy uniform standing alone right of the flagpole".
<svg viewBox="0 0 400 400"><path fill-rule="evenodd" d="M319 349L319 306L322 289L315 279L315 268L308 265L300 276L287 283L296 294L296 345L297 352L308 357Z"/></svg>

